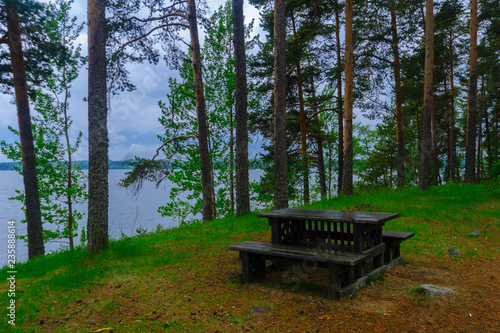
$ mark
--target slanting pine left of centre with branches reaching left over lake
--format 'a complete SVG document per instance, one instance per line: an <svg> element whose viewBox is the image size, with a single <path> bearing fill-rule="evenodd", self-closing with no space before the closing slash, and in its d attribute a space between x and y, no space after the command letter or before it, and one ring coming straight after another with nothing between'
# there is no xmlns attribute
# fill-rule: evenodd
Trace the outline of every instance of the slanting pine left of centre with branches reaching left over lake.
<svg viewBox="0 0 500 333"><path fill-rule="evenodd" d="M154 49L153 44L165 42L163 47L167 47L167 43L171 43L170 50L171 58L165 57L170 65L179 68L179 62L184 61L182 52L175 45L181 40L177 34L179 29L187 28L190 31L191 37L191 55L192 69L194 77L194 94L196 100L196 113L198 121L198 145L200 155L201 181L202 181L202 197L203 197L203 220L211 220L215 216L214 202L214 181L213 181L213 166L210 157L210 149L208 142L208 124L206 101L203 88L202 66L200 56L200 42L198 37L197 10L194 0L173 1L170 5L166 5L162 0L155 1L138 1L138 6L124 7L117 6L115 8L115 28L117 35L122 38L128 38L126 43L121 44L117 52L116 58L126 59L135 58L139 60L150 60L156 63L158 61L158 51ZM141 5L144 5L150 10L149 16L139 18L135 16L141 11ZM186 8L187 5L187 8ZM187 13L187 15L186 15ZM124 15L131 17L125 17ZM165 33L154 35L153 32L158 29L163 29ZM159 36L159 37L158 37ZM118 38L119 39L119 38ZM133 55L125 56L125 48L130 44L135 43ZM140 54L140 55L137 55ZM120 58L122 57L122 58ZM118 61L115 61L115 63Z"/></svg>

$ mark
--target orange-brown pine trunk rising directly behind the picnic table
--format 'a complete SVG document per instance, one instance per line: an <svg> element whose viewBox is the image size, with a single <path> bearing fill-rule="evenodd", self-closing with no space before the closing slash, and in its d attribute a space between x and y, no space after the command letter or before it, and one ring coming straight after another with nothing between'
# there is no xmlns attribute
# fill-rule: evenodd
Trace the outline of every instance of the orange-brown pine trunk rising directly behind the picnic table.
<svg viewBox="0 0 500 333"><path fill-rule="evenodd" d="M353 173L353 147L352 147L352 108L353 108L353 39L352 0L347 0L345 5L345 96L344 96L344 174L342 177L342 194L352 195L352 173Z"/></svg>

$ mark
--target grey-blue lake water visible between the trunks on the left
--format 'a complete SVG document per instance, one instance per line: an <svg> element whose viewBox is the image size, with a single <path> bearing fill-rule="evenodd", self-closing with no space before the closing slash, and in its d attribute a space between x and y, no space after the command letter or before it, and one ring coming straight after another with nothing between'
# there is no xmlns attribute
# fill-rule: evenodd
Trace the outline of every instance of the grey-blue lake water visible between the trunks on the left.
<svg viewBox="0 0 500 333"><path fill-rule="evenodd" d="M158 212L159 206L169 200L171 184L166 182L156 188L153 183L144 182L144 186L138 196L133 196L130 191L118 186L119 181L124 178L128 170L109 170L109 236L120 238L122 234L132 236L138 228L153 231L158 224L164 228L177 226L171 217L163 217ZM261 170L251 170L250 180L255 180L262 174ZM15 221L16 234L25 235L27 226L21 224L24 218L22 205L18 201L8 200L15 195L16 189L23 189L23 179L15 171L0 171L0 267L7 264L8 245L8 222ZM87 205L77 205L78 211L86 213ZM201 217L201 216L200 216ZM81 226L87 224L87 217L80 221ZM75 244L80 240L75 239ZM45 253L59 249L61 242L45 243ZM24 241L16 241L16 260L18 262L28 259L28 248Z"/></svg>

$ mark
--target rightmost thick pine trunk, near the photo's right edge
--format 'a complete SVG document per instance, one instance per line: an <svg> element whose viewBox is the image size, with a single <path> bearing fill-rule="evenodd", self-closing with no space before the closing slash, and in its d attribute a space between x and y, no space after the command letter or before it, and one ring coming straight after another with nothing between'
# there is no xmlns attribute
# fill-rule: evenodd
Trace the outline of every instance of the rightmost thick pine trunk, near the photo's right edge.
<svg viewBox="0 0 500 333"><path fill-rule="evenodd" d="M470 72L467 105L467 140L465 144L465 182L476 181L476 123L477 123L477 0L470 8Z"/></svg>

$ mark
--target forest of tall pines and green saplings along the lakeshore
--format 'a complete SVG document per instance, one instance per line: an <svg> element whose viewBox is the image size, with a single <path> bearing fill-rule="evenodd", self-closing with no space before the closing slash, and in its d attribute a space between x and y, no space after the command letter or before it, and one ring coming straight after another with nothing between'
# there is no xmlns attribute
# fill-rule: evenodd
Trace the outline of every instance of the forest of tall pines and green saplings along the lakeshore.
<svg viewBox="0 0 500 333"><path fill-rule="evenodd" d="M498 182L498 0L249 4L259 22L245 24L242 0L215 9L88 0L85 24L71 16L73 0L0 2L0 85L19 123L9 127L18 141L0 149L20 162L25 187L14 198L30 258L51 239L73 248L79 234L90 253L108 248L108 106L136 88L138 63L178 76L153 101L164 128L154 157L131 162L121 185L172 182L159 212L180 222L380 188ZM76 42L85 31L88 52ZM88 186L72 161L82 133L69 135L72 84L84 70ZM250 182L249 169L263 176ZM86 230L72 208L85 201Z"/></svg>

